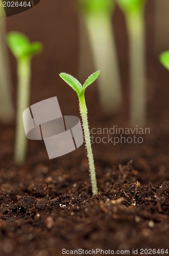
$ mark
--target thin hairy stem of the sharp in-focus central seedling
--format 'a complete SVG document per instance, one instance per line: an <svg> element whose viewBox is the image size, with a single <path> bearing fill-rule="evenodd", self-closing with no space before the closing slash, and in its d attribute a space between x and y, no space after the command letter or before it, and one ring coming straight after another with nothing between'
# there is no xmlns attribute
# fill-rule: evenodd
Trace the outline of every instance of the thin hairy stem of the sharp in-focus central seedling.
<svg viewBox="0 0 169 256"><path fill-rule="evenodd" d="M81 114L83 133L85 136L85 143L86 143L86 148L88 153L90 176L91 176L91 182L92 182L92 193L94 196L98 193L98 190L97 190L97 182L96 182L95 165L94 165L94 159L93 159L93 153L92 153L92 145L91 145L91 139L90 139L90 131L89 131L89 125L88 125L88 115L87 115L88 111L87 111L86 101L85 101L85 92L81 93L81 95L79 96L79 110Z"/></svg>

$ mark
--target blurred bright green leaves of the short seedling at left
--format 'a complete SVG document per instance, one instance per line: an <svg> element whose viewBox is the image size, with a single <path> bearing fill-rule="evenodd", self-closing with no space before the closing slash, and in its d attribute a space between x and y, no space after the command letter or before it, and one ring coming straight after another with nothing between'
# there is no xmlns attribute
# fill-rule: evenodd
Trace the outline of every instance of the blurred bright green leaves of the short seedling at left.
<svg viewBox="0 0 169 256"><path fill-rule="evenodd" d="M42 50L41 42L30 43L29 38L19 32L9 32L7 44L16 59L30 58Z"/></svg>

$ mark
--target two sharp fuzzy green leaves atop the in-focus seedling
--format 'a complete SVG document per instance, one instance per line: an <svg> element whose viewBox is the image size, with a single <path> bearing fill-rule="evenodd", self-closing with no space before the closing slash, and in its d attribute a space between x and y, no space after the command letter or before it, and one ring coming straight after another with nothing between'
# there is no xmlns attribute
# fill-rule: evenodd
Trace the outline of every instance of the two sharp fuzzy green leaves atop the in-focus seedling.
<svg viewBox="0 0 169 256"><path fill-rule="evenodd" d="M90 75L83 86L75 77L69 74L61 73L59 75L77 93L78 97L80 97L81 94L85 93L86 88L98 78L100 71L96 71Z"/></svg>

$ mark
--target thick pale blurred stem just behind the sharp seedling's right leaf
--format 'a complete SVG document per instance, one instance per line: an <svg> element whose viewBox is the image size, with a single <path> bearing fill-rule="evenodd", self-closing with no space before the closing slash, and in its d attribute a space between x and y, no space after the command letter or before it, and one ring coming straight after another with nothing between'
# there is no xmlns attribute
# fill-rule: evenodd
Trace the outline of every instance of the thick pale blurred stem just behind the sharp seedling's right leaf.
<svg viewBox="0 0 169 256"><path fill-rule="evenodd" d="M106 113L116 112L122 103L118 58L110 15L87 15L85 23L94 65L101 70L99 97Z"/></svg>

